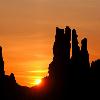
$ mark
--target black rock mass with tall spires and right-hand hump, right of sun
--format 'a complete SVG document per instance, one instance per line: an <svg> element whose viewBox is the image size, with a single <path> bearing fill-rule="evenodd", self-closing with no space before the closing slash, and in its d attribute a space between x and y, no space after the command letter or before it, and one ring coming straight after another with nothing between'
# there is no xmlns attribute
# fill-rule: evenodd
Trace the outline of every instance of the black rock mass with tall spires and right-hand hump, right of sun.
<svg viewBox="0 0 100 100"><path fill-rule="evenodd" d="M75 29L56 27L53 61L49 64L49 76L44 78L52 83L47 86L52 87L52 99L92 97L100 89L100 60L90 64L87 38L81 40L81 47L77 38Z"/></svg>

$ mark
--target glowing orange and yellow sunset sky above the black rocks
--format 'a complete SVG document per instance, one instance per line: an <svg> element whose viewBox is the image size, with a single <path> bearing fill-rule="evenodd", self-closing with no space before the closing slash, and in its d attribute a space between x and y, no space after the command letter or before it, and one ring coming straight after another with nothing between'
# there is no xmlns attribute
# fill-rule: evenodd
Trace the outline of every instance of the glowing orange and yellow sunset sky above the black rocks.
<svg viewBox="0 0 100 100"><path fill-rule="evenodd" d="M100 0L0 0L0 45L5 72L33 86L47 75L55 27L88 38L91 60L100 58Z"/></svg>

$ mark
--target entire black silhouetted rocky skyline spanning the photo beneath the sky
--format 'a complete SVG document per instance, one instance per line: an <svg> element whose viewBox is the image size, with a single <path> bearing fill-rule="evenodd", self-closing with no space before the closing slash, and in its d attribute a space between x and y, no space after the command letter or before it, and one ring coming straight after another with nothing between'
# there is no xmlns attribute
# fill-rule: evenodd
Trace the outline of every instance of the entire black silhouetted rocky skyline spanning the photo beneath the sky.
<svg viewBox="0 0 100 100"><path fill-rule="evenodd" d="M100 90L100 60L90 65L87 39L82 39L79 47L77 37L75 29L71 30L68 26L65 29L56 28L53 61L49 64L49 76L42 79L42 87L22 87L16 83L13 73L5 75L0 47L0 98L66 100L73 96L75 99L97 95L97 90Z"/></svg>

